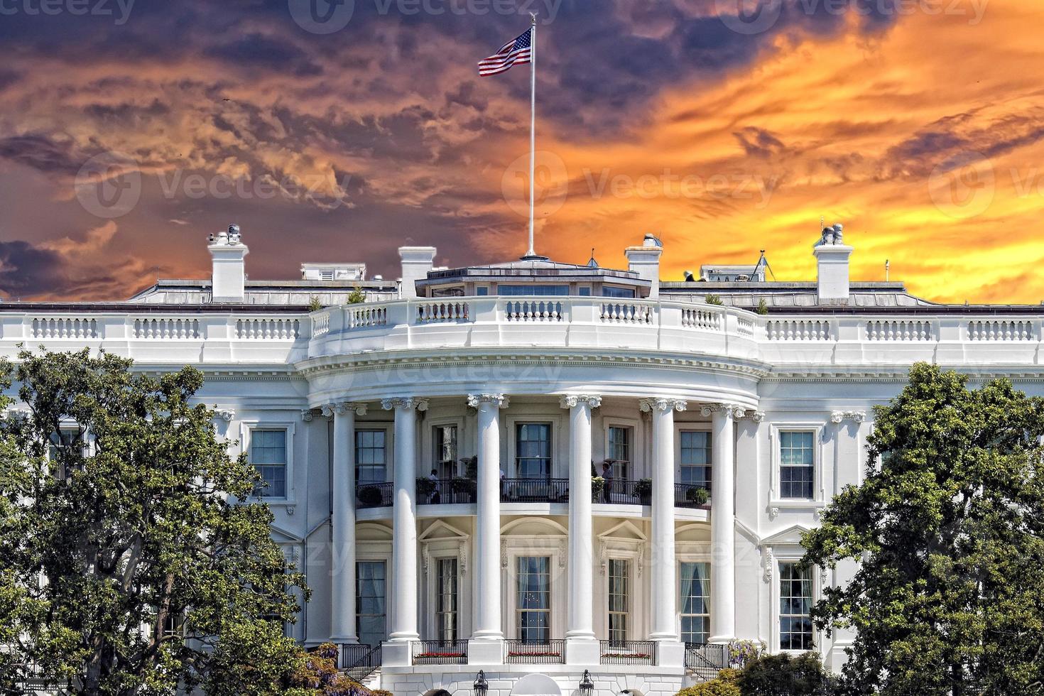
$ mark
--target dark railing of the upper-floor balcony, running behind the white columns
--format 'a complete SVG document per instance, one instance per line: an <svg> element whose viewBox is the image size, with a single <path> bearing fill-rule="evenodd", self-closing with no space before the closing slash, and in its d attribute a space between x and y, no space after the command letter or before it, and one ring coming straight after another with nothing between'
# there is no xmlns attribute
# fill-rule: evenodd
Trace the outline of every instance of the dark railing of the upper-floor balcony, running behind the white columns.
<svg viewBox="0 0 1044 696"><path fill-rule="evenodd" d="M674 484L674 507L709 509L710 485ZM360 510L392 507L395 484L360 483L356 488L356 508ZM475 482L471 479L419 479L418 505L467 505L477 500ZM501 479L501 503L568 503L569 479ZM609 505L651 505L651 479L612 479L600 489L591 491L591 502Z"/></svg>

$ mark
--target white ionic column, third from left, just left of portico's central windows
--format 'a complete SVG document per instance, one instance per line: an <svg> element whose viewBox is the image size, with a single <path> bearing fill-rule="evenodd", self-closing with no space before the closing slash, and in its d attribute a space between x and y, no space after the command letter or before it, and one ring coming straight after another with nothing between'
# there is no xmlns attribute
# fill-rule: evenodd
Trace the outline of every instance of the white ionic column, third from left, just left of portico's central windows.
<svg viewBox="0 0 1044 696"><path fill-rule="evenodd" d="M478 410L478 502L475 522L475 592L478 603L472 639L495 642L504 638L500 620L500 409L507 408L507 398L503 394L469 394L468 406ZM478 649L481 650L481 646ZM496 662L499 662L499 643L491 647L490 652L494 651Z"/></svg>

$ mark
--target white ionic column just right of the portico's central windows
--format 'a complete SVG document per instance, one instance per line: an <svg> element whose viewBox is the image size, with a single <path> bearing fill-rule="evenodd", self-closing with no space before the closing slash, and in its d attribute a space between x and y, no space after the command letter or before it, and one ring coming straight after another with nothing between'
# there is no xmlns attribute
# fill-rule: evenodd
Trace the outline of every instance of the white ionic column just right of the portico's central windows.
<svg viewBox="0 0 1044 696"><path fill-rule="evenodd" d="M597 662L594 634L594 534L591 520L591 409L601 397L562 397L569 409L569 614L566 662Z"/></svg>

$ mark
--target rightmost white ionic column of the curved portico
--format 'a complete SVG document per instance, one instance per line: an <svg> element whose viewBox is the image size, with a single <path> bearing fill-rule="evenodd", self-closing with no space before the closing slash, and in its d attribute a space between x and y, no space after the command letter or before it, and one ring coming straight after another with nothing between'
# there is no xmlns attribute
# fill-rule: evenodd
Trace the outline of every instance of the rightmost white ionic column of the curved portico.
<svg viewBox="0 0 1044 696"><path fill-rule="evenodd" d="M743 409L711 404L711 643L736 638L735 419Z"/></svg>

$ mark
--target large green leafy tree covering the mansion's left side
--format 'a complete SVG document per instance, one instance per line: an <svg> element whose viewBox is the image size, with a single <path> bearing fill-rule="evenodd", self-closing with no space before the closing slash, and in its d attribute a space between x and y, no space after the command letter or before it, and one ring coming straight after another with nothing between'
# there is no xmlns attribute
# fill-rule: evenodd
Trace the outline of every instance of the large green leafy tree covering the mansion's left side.
<svg viewBox="0 0 1044 696"><path fill-rule="evenodd" d="M17 369L0 366L7 385L13 375L28 407L0 423L0 611L15 662L91 696L230 674L240 693L268 693L256 664L293 649L281 627L304 584L267 506L239 502L257 474L196 403L203 374L152 377L84 351L23 352Z"/></svg>

